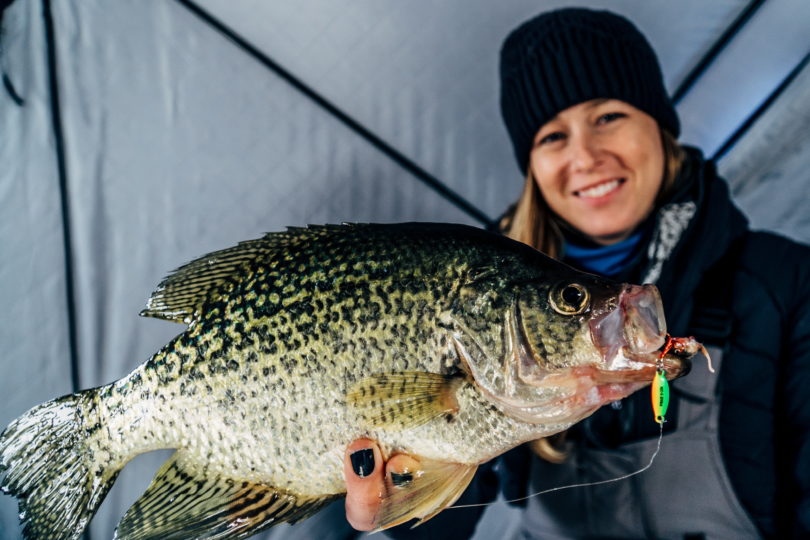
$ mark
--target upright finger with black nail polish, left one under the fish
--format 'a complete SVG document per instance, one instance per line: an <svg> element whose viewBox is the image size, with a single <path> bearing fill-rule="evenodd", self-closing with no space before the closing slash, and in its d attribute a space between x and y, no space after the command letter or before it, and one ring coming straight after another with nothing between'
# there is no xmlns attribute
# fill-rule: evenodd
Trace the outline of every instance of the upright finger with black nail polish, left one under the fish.
<svg viewBox="0 0 810 540"><path fill-rule="evenodd" d="M377 444L358 439L346 449L343 476L346 479L346 519L359 531L376 527L377 512L385 492L385 464Z"/></svg>

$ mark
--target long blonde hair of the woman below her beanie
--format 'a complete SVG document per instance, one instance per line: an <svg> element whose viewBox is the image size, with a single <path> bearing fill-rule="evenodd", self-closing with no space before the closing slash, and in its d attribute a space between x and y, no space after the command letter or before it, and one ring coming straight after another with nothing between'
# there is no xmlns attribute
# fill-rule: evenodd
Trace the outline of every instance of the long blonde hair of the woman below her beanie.
<svg viewBox="0 0 810 540"><path fill-rule="evenodd" d="M683 166L686 153L678 141L664 129L660 130L661 145L664 149L664 170L661 189L655 199L656 207L666 201L675 189L678 174ZM549 257L558 259L563 246L563 235L559 217L548 207L530 166L526 167L526 180L520 198L501 218L499 227L509 238L528 244ZM566 451L561 448L565 433L538 439L530 444L541 458L552 463L561 463Z"/></svg>

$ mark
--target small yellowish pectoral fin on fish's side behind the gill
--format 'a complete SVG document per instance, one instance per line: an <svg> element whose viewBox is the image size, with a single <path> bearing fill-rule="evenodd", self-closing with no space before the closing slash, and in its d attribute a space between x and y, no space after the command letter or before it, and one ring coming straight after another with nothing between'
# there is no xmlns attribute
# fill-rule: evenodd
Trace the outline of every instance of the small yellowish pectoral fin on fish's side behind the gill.
<svg viewBox="0 0 810 540"><path fill-rule="evenodd" d="M461 378L439 373L379 373L355 384L346 401L366 427L406 429L458 412Z"/></svg>

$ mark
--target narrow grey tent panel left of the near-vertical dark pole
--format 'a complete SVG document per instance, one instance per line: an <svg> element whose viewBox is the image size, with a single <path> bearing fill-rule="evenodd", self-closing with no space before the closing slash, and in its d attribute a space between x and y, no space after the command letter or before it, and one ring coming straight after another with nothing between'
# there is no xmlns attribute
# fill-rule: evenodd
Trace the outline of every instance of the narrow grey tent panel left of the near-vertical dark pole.
<svg viewBox="0 0 810 540"><path fill-rule="evenodd" d="M71 390L62 210L41 8L13 6L0 91L0 425ZM10 13L9 16L12 16ZM1 429L1 428L0 428ZM19 537L17 503L0 495L0 538Z"/></svg>

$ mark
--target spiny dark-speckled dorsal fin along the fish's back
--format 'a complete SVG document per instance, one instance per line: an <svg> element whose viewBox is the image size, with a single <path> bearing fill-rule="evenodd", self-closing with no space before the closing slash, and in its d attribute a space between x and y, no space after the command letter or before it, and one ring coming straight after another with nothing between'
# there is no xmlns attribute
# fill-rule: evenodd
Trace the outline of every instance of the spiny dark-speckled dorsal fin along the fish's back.
<svg viewBox="0 0 810 540"><path fill-rule="evenodd" d="M296 242L341 234L351 227L354 225L288 227L286 232L267 233L262 238L204 255L166 277L140 314L191 324L199 318L203 306L226 294L226 283L238 280L251 264Z"/></svg>

